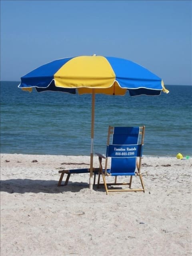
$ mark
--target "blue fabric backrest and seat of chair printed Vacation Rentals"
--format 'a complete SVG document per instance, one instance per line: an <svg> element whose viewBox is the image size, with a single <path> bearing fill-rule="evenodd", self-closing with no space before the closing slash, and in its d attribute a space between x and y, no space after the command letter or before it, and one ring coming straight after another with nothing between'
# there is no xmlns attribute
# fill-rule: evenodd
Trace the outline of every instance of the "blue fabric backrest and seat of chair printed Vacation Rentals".
<svg viewBox="0 0 192 256"><path fill-rule="evenodd" d="M134 175L136 170L140 172L144 129L144 126L109 126L105 169L107 170L107 159L110 157L109 172L111 175ZM110 143L111 137L112 142ZM139 161L137 161L138 158Z"/></svg>

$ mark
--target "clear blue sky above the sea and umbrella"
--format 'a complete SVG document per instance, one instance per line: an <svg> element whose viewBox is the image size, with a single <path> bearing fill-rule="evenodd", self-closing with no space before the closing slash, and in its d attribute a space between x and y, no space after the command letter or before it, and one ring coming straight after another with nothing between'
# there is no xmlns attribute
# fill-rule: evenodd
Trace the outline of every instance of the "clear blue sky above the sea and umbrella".
<svg viewBox="0 0 192 256"><path fill-rule="evenodd" d="M0 80L58 58L132 60L165 84L192 84L192 1L0 1Z"/></svg>

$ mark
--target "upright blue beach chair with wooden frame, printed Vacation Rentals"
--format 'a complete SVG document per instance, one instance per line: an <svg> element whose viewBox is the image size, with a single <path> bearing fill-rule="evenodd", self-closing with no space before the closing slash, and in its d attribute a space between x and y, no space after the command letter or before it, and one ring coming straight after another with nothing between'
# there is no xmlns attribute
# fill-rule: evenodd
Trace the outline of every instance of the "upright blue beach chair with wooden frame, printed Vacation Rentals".
<svg viewBox="0 0 192 256"><path fill-rule="evenodd" d="M106 157L96 153L96 155L99 157L100 165L100 172L98 175L98 187L100 185L100 175L102 175L106 194L111 191L145 192L142 174L140 172L142 160L142 146L144 144L144 133L145 126L109 126ZM112 143L110 144L111 138ZM102 166L103 158L105 159L105 168L103 168ZM108 168L108 158L110 158L111 160L110 168ZM107 183L107 176L115 176L114 183ZM130 180L126 183L117 183L117 176L130 176ZM131 188L133 176L139 176L142 188ZM122 188L122 185L128 185L129 188Z"/></svg>

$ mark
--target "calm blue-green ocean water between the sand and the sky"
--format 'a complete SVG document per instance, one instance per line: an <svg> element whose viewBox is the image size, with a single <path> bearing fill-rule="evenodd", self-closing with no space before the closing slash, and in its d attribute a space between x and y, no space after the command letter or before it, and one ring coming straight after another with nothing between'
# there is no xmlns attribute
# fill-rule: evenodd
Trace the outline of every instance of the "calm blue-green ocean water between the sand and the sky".
<svg viewBox="0 0 192 256"><path fill-rule="evenodd" d="M0 82L0 151L90 155L92 96L32 93ZM106 153L108 126L146 126L145 156L192 156L192 86L166 85L160 96L96 94L94 152Z"/></svg>

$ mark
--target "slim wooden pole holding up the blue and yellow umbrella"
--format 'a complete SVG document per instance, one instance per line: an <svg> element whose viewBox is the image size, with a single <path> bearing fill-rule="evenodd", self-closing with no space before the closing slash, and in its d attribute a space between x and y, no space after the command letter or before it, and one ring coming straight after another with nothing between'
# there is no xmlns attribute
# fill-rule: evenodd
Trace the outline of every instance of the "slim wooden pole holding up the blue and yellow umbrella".
<svg viewBox="0 0 192 256"><path fill-rule="evenodd" d="M92 90L92 114L91 114L91 154L90 154L90 179L89 188L93 189L93 144L94 144L94 116L95 116L95 92Z"/></svg>

